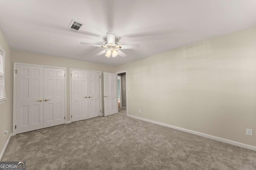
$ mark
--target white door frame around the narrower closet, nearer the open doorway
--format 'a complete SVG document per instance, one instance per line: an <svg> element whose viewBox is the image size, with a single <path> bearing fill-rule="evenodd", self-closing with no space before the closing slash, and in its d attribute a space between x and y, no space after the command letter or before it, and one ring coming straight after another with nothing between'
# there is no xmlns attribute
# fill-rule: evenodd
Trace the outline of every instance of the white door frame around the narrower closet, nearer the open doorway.
<svg viewBox="0 0 256 170"><path fill-rule="evenodd" d="M70 113L70 117L69 117L69 119L70 119L70 122L69 123L71 123L72 122L72 118L71 118L71 111L72 111L72 87L71 87L71 84L72 84L72 79L71 79L71 70L79 70L79 71L91 71L91 72L99 72L100 73L100 110L101 110L101 112L100 112L100 116L102 116L102 112L103 112L103 110L102 110L102 88L101 88L101 86L102 86L102 75L101 75L101 71L95 71L95 70L84 70L84 69L77 69L77 68L69 68L69 73L70 73L70 75L69 75L69 113Z"/></svg>

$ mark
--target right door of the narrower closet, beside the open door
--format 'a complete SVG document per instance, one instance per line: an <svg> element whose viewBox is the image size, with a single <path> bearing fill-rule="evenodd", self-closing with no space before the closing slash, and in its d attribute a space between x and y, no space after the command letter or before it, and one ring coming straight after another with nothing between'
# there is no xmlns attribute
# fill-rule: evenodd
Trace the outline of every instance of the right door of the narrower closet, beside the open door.
<svg viewBox="0 0 256 170"><path fill-rule="evenodd" d="M88 118L100 116L100 73L88 72Z"/></svg>

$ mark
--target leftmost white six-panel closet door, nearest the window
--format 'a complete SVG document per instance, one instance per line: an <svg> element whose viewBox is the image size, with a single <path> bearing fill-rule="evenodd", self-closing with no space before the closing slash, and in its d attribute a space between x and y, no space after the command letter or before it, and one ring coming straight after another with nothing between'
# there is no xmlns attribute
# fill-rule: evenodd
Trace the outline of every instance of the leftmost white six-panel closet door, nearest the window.
<svg viewBox="0 0 256 170"><path fill-rule="evenodd" d="M17 64L16 134L42 129L43 67Z"/></svg>

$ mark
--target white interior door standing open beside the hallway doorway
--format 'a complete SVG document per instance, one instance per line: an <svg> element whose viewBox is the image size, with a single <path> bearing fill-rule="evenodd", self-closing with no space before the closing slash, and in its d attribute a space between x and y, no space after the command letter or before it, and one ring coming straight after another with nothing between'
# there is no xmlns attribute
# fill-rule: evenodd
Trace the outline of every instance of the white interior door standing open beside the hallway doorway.
<svg viewBox="0 0 256 170"><path fill-rule="evenodd" d="M104 72L104 116L117 113L117 74Z"/></svg>

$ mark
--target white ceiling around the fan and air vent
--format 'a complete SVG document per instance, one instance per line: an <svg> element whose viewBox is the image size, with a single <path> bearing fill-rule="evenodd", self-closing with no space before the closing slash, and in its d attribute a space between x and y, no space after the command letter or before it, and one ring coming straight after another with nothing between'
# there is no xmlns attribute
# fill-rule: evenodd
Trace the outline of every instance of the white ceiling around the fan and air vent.
<svg viewBox="0 0 256 170"><path fill-rule="evenodd" d="M84 23L80 33L67 30ZM0 0L0 29L14 50L118 65L256 25L256 0ZM127 57L95 56L106 32Z"/></svg>

